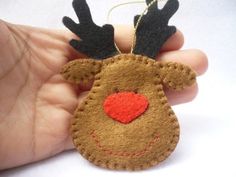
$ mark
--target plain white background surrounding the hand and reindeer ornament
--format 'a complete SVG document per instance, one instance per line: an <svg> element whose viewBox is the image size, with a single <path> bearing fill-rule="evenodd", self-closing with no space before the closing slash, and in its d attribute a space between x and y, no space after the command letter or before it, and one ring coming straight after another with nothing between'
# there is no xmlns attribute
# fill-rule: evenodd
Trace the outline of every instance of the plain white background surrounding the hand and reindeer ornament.
<svg viewBox="0 0 236 177"><path fill-rule="evenodd" d="M236 1L180 0L171 23L185 34L184 48L199 48L209 57L209 70L198 78L199 95L174 107L181 124L175 152L160 166L141 172L97 168L70 151L24 167L0 172L1 177L106 176L236 176ZM106 23L108 10L127 0L88 0L94 21ZM113 23L131 24L144 5L114 10ZM76 19L71 0L0 0L0 18L13 23L64 28L61 18ZM1 46L0 46L1 47ZM1 163L1 162L0 162Z"/></svg>

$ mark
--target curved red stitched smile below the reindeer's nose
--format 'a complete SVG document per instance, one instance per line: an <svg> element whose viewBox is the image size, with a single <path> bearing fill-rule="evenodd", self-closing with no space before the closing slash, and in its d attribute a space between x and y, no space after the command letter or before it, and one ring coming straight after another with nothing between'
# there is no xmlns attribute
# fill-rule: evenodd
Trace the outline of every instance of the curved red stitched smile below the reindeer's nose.
<svg viewBox="0 0 236 177"><path fill-rule="evenodd" d="M155 137L153 137L147 144L146 146L139 151L135 151L135 152L125 152L125 151L117 151L114 152L111 149L107 149L104 146L101 145L101 142L99 141L98 136L95 134L95 130L93 130L90 133L91 138L94 140L96 146L102 150L104 153L106 153L107 155L113 155L113 156L118 156L118 157L129 157L129 158L134 158L134 157L141 157L143 156L145 153L151 151L152 147L155 145L155 143L160 139L159 135L156 135Z"/></svg>

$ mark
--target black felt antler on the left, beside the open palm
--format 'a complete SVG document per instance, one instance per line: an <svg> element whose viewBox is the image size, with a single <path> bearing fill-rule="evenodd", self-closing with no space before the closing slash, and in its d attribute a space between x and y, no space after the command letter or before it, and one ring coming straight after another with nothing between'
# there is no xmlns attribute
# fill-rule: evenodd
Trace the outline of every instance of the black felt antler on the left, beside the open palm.
<svg viewBox="0 0 236 177"><path fill-rule="evenodd" d="M64 17L63 23L80 40L72 39L70 45L79 52L95 59L104 59L118 53L114 44L114 28L112 25L97 26L93 20L85 0L74 0L73 7L79 18L79 24L71 18Z"/></svg>

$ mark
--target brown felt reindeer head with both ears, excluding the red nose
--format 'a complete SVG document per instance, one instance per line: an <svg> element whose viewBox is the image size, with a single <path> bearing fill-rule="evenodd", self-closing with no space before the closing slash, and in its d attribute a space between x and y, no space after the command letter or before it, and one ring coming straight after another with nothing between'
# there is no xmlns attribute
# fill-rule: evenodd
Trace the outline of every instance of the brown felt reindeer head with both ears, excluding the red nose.
<svg viewBox="0 0 236 177"><path fill-rule="evenodd" d="M75 83L95 78L71 126L74 145L86 159L110 169L140 170L165 160L175 149L179 124L163 85L176 90L192 85L196 75L191 68L122 54L103 61L75 60L61 73ZM108 117L103 102L117 90L145 95L147 111L129 124Z"/></svg>

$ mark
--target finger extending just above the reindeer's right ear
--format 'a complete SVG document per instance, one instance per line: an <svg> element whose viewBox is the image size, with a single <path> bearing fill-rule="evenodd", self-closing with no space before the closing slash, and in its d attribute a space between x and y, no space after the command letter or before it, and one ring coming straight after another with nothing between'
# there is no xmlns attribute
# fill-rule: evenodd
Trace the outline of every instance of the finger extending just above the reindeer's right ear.
<svg viewBox="0 0 236 177"><path fill-rule="evenodd" d="M195 49L163 52L158 56L157 60L173 61L188 65L197 73L197 75L202 75L208 67L206 54Z"/></svg>

